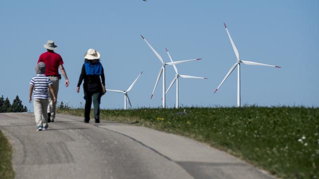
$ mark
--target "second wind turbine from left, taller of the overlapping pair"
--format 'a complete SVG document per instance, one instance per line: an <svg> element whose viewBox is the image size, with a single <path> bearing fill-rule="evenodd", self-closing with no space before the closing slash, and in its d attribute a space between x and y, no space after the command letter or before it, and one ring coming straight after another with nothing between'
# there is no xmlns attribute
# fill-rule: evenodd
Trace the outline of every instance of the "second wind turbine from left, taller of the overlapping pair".
<svg viewBox="0 0 319 179"><path fill-rule="evenodd" d="M158 86L159 80L160 80L160 76L161 74L163 74L163 87L162 87L162 108L166 107L165 104L165 66L166 65L176 65L176 64L180 64L180 63L184 63L184 62L190 62L190 61L195 61L195 60L200 60L200 59L191 59L191 60L182 60L182 61L175 61L175 62L168 62L165 63L164 60L161 58L160 54L150 45L150 43L143 37L143 35L141 35L141 37L143 38L143 40L149 45L149 47L152 49L152 51L155 53L155 55L160 59L161 62L161 68L160 68L160 72L158 75L158 78L156 80L152 95L151 95L151 99L153 97L154 91L156 89L156 87Z"/></svg>

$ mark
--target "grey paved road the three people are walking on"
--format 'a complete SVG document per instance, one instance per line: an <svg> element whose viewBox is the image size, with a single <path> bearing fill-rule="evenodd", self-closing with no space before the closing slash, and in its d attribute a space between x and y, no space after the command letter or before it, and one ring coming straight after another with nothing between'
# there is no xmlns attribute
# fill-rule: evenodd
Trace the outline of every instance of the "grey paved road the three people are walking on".
<svg viewBox="0 0 319 179"><path fill-rule="evenodd" d="M36 131L31 113L0 114L16 179L274 179L185 137L62 114L55 121Z"/></svg>

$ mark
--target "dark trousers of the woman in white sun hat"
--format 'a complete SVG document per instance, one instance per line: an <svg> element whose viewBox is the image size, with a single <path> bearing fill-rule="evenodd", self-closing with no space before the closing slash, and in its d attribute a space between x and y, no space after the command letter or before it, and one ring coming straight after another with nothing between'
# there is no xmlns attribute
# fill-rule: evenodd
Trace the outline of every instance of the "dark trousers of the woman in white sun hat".
<svg viewBox="0 0 319 179"><path fill-rule="evenodd" d="M101 92L86 92L84 91L85 108L84 108L84 122L90 121L90 112L93 99L94 107L94 118L95 122L100 122L100 103L101 103Z"/></svg>

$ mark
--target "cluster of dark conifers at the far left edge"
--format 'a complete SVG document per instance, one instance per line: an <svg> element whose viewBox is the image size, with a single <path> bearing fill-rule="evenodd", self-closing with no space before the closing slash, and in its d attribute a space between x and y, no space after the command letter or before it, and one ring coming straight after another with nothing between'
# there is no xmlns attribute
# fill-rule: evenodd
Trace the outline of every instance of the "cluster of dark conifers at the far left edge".
<svg viewBox="0 0 319 179"><path fill-rule="evenodd" d="M17 95L12 104L8 97L4 99L3 95L0 97L0 112L26 112L28 109L23 106L22 101Z"/></svg>

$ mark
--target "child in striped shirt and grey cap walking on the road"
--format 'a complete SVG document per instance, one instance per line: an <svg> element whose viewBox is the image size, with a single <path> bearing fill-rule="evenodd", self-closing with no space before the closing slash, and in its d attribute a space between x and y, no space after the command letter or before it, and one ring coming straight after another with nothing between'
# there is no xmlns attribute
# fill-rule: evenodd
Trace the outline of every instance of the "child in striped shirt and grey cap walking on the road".
<svg viewBox="0 0 319 179"><path fill-rule="evenodd" d="M33 110L37 131L47 130L48 128L48 114L46 112L48 107L48 88L53 96L53 102L56 102L54 91L52 88L52 81L44 75L45 63L39 62L35 66L36 76L30 81L29 102L33 91Z"/></svg>

